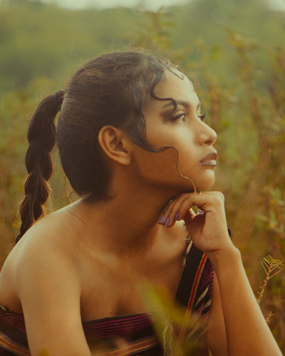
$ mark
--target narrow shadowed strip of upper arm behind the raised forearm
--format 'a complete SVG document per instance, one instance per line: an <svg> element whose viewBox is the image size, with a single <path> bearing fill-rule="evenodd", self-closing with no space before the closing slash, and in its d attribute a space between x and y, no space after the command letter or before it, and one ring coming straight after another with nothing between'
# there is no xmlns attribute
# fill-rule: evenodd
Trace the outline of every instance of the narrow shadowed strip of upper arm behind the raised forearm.
<svg viewBox="0 0 285 356"><path fill-rule="evenodd" d="M228 356L226 326L218 279L214 274L212 303L207 329L208 346L213 356Z"/></svg>

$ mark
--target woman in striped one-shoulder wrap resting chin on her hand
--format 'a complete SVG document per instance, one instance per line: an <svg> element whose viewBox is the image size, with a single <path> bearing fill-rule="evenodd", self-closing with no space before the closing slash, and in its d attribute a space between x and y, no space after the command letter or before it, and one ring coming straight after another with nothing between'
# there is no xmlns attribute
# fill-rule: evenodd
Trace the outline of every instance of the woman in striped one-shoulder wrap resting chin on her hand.
<svg viewBox="0 0 285 356"><path fill-rule="evenodd" d="M216 133L200 106L177 67L139 52L95 58L41 101L21 234L0 277L1 355L281 355L223 195L208 191ZM56 142L81 199L38 220ZM183 306L182 326L148 309L144 281Z"/></svg>

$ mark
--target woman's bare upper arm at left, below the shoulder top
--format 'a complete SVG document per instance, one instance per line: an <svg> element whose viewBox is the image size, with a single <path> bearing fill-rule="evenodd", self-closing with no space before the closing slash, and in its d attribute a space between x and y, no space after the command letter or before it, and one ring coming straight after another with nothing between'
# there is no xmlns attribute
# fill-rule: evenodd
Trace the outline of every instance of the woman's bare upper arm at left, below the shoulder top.
<svg viewBox="0 0 285 356"><path fill-rule="evenodd" d="M32 241L16 261L16 286L31 355L90 356L83 333L76 268L66 253Z"/></svg>

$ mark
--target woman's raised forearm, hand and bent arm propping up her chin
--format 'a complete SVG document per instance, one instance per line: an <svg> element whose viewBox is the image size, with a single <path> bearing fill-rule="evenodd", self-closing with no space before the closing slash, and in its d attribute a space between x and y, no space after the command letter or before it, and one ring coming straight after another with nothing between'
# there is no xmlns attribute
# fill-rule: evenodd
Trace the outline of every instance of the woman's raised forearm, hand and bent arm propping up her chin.
<svg viewBox="0 0 285 356"><path fill-rule="evenodd" d="M203 211L195 214L191 209L195 205ZM217 276L208 320L212 354L225 355L221 330L216 331L223 318L228 356L281 356L248 282L240 252L228 235L223 194L183 193L169 203L159 223L170 227L181 219L195 246L208 255Z"/></svg>

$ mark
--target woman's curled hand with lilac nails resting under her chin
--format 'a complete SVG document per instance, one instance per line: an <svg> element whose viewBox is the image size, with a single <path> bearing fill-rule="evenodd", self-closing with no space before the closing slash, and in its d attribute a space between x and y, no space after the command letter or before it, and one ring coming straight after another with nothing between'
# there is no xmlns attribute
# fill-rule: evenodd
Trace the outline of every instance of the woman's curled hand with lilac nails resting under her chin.
<svg viewBox="0 0 285 356"><path fill-rule="evenodd" d="M200 209L197 214L192 206ZM182 193L170 202L159 223L171 227L181 219L194 245L207 255L233 247L221 192Z"/></svg>

